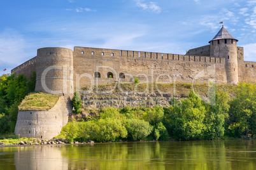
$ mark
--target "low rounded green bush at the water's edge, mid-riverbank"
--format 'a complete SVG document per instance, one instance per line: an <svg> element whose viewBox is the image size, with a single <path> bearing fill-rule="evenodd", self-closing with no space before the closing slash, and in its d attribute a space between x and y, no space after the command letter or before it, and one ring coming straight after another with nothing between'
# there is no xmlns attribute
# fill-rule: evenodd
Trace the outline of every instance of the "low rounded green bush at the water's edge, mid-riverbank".
<svg viewBox="0 0 256 170"><path fill-rule="evenodd" d="M148 122L140 119L127 119L125 128L128 132L127 138L134 141L145 140L153 129Z"/></svg>

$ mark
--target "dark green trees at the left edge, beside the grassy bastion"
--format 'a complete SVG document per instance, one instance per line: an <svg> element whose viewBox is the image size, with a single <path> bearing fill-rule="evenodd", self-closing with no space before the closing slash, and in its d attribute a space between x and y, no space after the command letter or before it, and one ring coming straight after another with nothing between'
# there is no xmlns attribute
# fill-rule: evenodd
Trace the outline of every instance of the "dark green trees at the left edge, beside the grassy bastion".
<svg viewBox="0 0 256 170"><path fill-rule="evenodd" d="M36 86L36 72L29 79L24 74L4 74L0 77L0 134L13 133L18 105Z"/></svg>

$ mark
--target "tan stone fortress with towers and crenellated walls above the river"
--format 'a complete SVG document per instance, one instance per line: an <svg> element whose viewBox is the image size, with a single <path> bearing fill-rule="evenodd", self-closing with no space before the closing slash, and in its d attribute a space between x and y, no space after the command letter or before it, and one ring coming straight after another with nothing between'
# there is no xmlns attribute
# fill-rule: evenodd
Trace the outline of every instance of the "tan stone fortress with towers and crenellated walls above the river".
<svg viewBox="0 0 256 170"><path fill-rule="evenodd" d="M84 86L132 82L134 76L138 77L139 82L196 81L203 84L211 81L233 85L241 81L256 82L256 63L244 61L243 47L238 47L237 42L238 40L222 27L209 41L210 44L190 49L185 55L85 47L75 47L74 51L67 48L40 48L37 56L11 70L11 73L28 77L35 71L35 91L59 96L73 95L75 89ZM68 110L70 112L70 109ZM60 118L60 128L55 131L48 129L51 131L49 133L40 128L43 126L38 118L30 117L32 113L37 114L37 111L19 112L15 133L37 138L57 136L67 122L68 110L62 112L64 115ZM37 119L37 122L34 119ZM31 120L34 126L31 126L28 120ZM32 130L29 130L31 128L34 128L33 134Z"/></svg>

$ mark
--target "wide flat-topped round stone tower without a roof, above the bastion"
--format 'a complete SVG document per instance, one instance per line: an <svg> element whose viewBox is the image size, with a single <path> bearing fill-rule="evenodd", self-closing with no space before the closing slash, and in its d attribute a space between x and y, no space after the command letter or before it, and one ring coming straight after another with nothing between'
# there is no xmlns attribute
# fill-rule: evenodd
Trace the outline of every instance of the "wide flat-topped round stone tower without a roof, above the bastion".
<svg viewBox="0 0 256 170"><path fill-rule="evenodd" d="M73 51L40 48L36 56L36 89L55 95L73 95Z"/></svg>

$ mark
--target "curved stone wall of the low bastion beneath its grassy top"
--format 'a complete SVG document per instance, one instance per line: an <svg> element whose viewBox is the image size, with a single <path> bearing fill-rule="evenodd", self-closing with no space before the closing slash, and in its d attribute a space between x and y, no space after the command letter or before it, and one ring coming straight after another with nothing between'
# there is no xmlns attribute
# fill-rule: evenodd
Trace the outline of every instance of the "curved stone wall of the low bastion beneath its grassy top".
<svg viewBox="0 0 256 170"><path fill-rule="evenodd" d="M68 115L71 112L69 96L61 96L56 105L48 111L20 111L15 126L15 135L50 140L60 133L63 126L66 126Z"/></svg>

